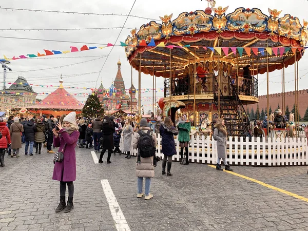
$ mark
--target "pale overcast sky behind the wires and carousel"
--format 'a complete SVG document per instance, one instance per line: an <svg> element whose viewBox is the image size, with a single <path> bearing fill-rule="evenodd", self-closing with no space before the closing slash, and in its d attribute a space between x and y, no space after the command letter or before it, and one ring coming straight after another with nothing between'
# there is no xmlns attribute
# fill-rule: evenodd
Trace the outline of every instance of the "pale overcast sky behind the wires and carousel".
<svg viewBox="0 0 308 231"><path fill-rule="evenodd" d="M14 0L14 1L2 1L1 7L7 8L22 8L22 9L35 9L35 10L51 10L51 11L69 11L69 12L85 12L85 13L114 13L114 14L128 14L134 0L92 0L92 1L41 1L41 0ZM189 3L189 4L188 4ZM226 7L229 6L227 13L233 12L238 7L244 8L259 8L266 15L269 15L267 8L282 10L280 16L286 13L297 16L302 24L304 16L306 15L306 9L308 2L305 0L293 0L293 1L227 1L218 0L217 5ZM141 1L137 0L134 5L131 15L137 15L140 17L158 19L159 16L173 13L171 20L174 20L182 12L190 12L207 7L207 2L200 0L192 1ZM2 18L1 29L69 29L69 28L103 28L103 27L122 27L126 16L103 16L103 15L82 15L82 14L67 14L67 13L52 13L52 12L35 12L35 11L17 11L17 10L4 10L0 9L0 16ZM308 20L308 17L305 18ZM141 25L150 22L143 18L129 17L125 27L128 28L140 28ZM32 41L13 38L0 37L0 58L3 55L7 57L36 54L37 52L44 53L44 49L47 50L70 50L70 46L82 47L88 46L102 46L100 44L114 43L117 39L121 29L102 29L102 30L68 30L68 31L56 31L56 30L41 30L41 31L1 31L0 36L8 37L24 37L24 38L40 38L44 40L58 40L58 41L71 41L82 43L64 43L64 42L49 42L49 41ZM127 35L130 34L130 29L123 29L119 36L117 44L120 41L124 42ZM90 44L92 43L92 44ZM109 88L112 79L114 80L117 74L117 62L120 59L122 62L122 75L125 81L126 88L130 87L131 69L126 59L124 49L120 46L114 46L107 61L106 57L110 52L110 47L104 49L94 49L83 52L74 52L67 54L59 54L48 57L61 57L61 59L24 59L11 61L10 67L12 72L8 72L7 82L14 82L18 75L24 76L29 84L37 85L59 85L60 75L63 75L64 86L70 87L99 87L101 79L105 88ZM91 56L91 57L89 57ZM94 56L94 57L93 57ZM62 59L64 57L64 59ZM74 57L74 58L73 58ZM96 60L93 60L96 59ZM74 63L80 63L89 61L77 65L71 65L61 68L64 65L70 65ZM299 62L299 75L302 76L299 80L300 89L308 88L307 72L308 67L306 65L308 55L304 55L303 59ZM102 66L106 61L103 69ZM52 68L52 69L46 69ZM45 69L45 70L37 70ZM99 76L99 71L102 69ZM32 71L31 71L32 70ZM1 87L3 85L3 69L1 71ZM66 76L72 74L81 74L96 72L92 74L85 74L79 76ZM294 80L294 66L290 66L285 71L285 81ZM306 74L306 75L305 75ZM52 77L51 77L52 76ZM266 75L259 76L260 83L259 95L266 94L266 81L263 81ZM274 71L269 74L269 80L272 82L280 82L281 71ZM133 83L138 88L138 72L133 70ZM11 85L7 84L7 87ZM141 88L152 88L152 77L150 75L142 74ZM162 78L157 79L157 88L163 88ZM286 83L286 91L294 90L294 82ZM37 93L52 92L55 88L42 88L33 87ZM85 89L67 89L70 93L90 93L90 90ZM271 93L277 93L281 91L281 85L276 83L270 83L269 90ZM142 97L151 97L152 93L144 93ZM157 97L163 96L162 92L157 93ZM38 98L44 98L44 95L39 95ZM76 97L79 101L85 101L85 97ZM143 101L142 104L151 104L151 100ZM150 109L151 107L145 107Z"/></svg>

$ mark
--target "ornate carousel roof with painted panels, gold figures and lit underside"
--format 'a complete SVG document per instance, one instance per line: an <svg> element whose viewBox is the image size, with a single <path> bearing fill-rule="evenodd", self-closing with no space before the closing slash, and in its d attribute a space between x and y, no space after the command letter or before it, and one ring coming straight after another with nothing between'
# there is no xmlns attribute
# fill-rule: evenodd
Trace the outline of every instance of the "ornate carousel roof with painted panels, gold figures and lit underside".
<svg viewBox="0 0 308 231"><path fill-rule="evenodd" d="M220 53L220 62L239 67L258 63L262 74L266 72L267 55L269 72L301 59L308 40L307 22L302 26L290 14L279 17L281 11L276 9L268 9L269 16L257 8L237 8L230 13L228 7L211 9L213 15L208 8L206 12L183 12L173 21L172 14L165 15L160 17L162 24L151 21L138 33L132 30L125 40L132 67L138 70L141 62L142 72L153 74L154 68L156 76L168 78L169 66L183 72L195 58L196 62L217 62Z"/></svg>

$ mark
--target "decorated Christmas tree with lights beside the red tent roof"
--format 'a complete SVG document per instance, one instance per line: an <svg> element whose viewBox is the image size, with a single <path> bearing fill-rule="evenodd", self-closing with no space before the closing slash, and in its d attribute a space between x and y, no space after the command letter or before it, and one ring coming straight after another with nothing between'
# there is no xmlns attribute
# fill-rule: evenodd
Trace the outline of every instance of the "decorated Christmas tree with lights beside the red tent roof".
<svg viewBox="0 0 308 231"><path fill-rule="evenodd" d="M102 104L97 94L89 94L85 106L82 109L82 113L84 117L97 118L99 115L104 115L104 108L102 107Z"/></svg>

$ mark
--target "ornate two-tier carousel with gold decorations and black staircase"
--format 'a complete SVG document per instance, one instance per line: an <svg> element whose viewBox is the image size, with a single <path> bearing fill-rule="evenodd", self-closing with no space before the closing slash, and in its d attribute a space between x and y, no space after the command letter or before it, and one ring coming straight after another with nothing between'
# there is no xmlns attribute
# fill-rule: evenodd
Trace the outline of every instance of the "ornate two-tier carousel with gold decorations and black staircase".
<svg viewBox="0 0 308 231"><path fill-rule="evenodd" d="M212 6L160 18L161 23L132 30L125 52L139 71L139 89L141 72L153 77L153 89L154 79L164 78L159 105L174 122L185 114L202 131L220 117L230 136L249 137L253 132L245 108L258 103L259 74L267 75L267 94L269 72L281 70L284 83L284 69L294 65L297 82L308 23L301 25L295 16L269 8L265 14L257 8ZM267 101L267 113L268 108Z"/></svg>

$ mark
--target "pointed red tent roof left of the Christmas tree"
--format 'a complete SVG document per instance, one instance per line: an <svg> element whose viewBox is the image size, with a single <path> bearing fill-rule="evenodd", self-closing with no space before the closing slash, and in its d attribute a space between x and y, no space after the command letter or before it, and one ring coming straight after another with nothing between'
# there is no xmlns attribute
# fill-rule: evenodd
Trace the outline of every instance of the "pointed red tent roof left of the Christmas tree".
<svg viewBox="0 0 308 231"><path fill-rule="evenodd" d="M76 100L61 86L48 94L48 96L31 108L54 108L54 109L72 109L82 110L83 104Z"/></svg>

